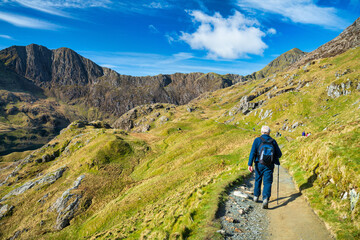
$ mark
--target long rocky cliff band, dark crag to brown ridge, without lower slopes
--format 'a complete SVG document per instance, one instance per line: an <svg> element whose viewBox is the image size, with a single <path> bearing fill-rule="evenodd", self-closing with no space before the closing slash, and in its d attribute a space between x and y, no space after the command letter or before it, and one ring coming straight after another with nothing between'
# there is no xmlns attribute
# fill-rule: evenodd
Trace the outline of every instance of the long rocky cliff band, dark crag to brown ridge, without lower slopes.
<svg viewBox="0 0 360 240"><path fill-rule="evenodd" d="M114 116L142 104L186 104L204 92L245 80L239 75L214 73L121 75L71 49L49 50L36 44L4 49L0 51L0 62L8 71L41 87L47 96L70 104L85 103Z"/></svg>

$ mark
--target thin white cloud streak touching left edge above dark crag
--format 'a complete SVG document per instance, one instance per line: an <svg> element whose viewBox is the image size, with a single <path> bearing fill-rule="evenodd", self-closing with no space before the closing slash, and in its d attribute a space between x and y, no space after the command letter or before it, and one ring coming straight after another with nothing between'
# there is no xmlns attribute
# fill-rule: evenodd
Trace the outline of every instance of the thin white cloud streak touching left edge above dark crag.
<svg viewBox="0 0 360 240"><path fill-rule="evenodd" d="M42 21L36 18L24 17L21 15L0 12L0 20L18 27L55 30L60 26Z"/></svg>

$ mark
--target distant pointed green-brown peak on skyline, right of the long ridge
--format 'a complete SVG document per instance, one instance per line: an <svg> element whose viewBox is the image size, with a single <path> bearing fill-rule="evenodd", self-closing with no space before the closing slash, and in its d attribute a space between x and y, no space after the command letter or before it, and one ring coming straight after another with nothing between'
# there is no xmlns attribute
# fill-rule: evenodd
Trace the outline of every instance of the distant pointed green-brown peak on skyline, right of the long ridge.
<svg viewBox="0 0 360 240"><path fill-rule="evenodd" d="M301 51L298 48L293 48L279 57L275 58L268 65L266 65L260 71L254 72L251 75L246 76L247 79L261 79L273 75L274 73L281 72L287 69L289 66L299 61L306 55L306 52Z"/></svg>

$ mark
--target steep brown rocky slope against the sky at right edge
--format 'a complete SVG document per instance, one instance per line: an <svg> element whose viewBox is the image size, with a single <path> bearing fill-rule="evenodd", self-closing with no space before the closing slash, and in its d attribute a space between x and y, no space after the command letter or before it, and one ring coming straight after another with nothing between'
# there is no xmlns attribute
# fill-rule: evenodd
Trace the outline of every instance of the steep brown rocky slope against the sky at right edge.
<svg viewBox="0 0 360 240"><path fill-rule="evenodd" d="M360 45L360 17L347 27L339 36L325 43L316 50L306 54L301 60L295 62L290 69L296 69L312 60L334 57L350 48Z"/></svg>

